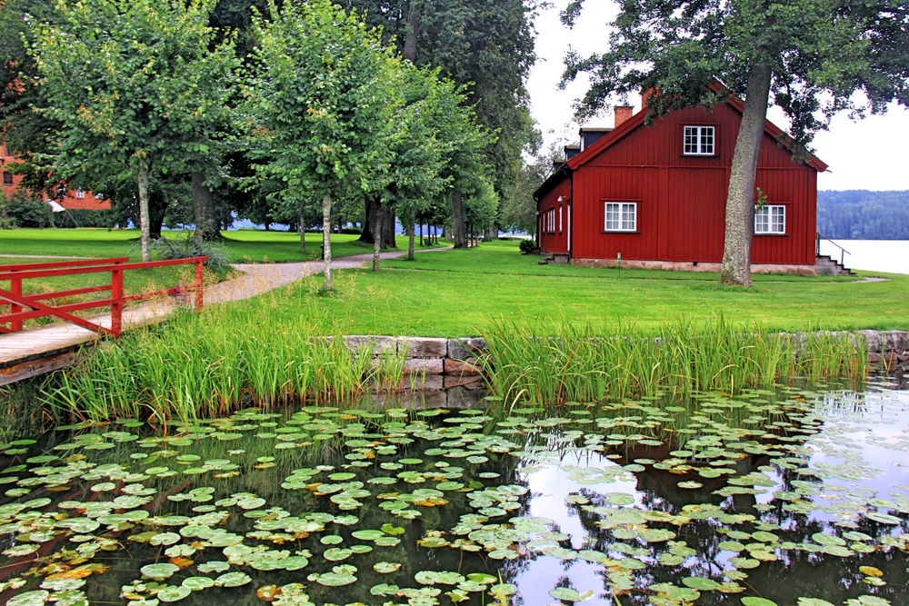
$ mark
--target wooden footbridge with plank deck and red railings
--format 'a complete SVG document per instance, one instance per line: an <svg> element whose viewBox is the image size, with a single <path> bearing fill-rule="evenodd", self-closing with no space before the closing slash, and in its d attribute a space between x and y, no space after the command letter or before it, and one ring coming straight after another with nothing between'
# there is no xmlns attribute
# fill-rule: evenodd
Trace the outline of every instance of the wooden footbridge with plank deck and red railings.
<svg viewBox="0 0 909 606"><path fill-rule="evenodd" d="M103 335L119 336L125 327L154 323L174 309L178 302L195 303L202 309L202 264L207 257L172 261L129 263L126 257L89 259L52 263L16 263L0 265L0 283L8 282L9 289L0 288L0 305L9 312L0 315L0 385L49 373L73 363L75 352L88 343L96 343ZM195 281L158 291L138 294L124 293L124 273L129 271L195 265ZM28 280L59 276L110 274L110 283L54 293L24 294ZM54 304L61 299L81 295L106 293L103 298L78 303ZM186 297L193 296L190 300ZM126 309L127 303L146 301ZM92 317L76 315L91 309L105 309ZM26 320L50 318L64 322L50 323L33 330L23 330Z"/></svg>

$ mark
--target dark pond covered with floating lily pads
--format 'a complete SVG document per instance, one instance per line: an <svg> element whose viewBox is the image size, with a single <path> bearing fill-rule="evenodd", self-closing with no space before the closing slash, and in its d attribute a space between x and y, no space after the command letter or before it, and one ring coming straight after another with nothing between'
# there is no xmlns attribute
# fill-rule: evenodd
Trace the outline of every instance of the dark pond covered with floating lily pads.
<svg viewBox="0 0 909 606"><path fill-rule="evenodd" d="M10 606L909 603L909 392L883 383L0 446Z"/></svg>

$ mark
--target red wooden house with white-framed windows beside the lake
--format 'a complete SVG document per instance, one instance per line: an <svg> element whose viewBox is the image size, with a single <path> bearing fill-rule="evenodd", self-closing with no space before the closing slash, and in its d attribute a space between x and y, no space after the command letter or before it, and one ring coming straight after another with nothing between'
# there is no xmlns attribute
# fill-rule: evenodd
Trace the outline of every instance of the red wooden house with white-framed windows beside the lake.
<svg viewBox="0 0 909 606"><path fill-rule="evenodd" d="M675 111L652 126L615 108L614 129L581 129L564 163L534 194L537 243L556 261L587 266L718 272L725 203L744 104ZM796 163L769 121L758 161L752 271L814 274L816 158Z"/></svg>

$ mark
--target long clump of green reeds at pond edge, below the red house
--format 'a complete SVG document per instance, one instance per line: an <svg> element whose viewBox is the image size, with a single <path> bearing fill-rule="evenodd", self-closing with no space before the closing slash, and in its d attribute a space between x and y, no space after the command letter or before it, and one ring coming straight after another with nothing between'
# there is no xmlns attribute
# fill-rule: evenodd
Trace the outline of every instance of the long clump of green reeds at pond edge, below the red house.
<svg viewBox="0 0 909 606"><path fill-rule="evenodd" d="M494 392L538 404L734 394L795 378L864 377L868 368L864 344L848 333L773 333L723 318L655 331L519 320L485 337Z"/></svg>

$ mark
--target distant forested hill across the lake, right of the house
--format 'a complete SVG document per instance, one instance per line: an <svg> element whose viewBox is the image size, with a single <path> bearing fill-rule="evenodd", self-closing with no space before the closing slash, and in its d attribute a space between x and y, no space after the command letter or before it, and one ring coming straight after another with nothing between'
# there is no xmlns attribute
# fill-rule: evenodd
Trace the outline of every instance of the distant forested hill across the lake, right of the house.
<svg viewBox="0 0 909 606"><path fill-rule="evenodd" d="M909 240L909 191L818 192L817 231L844 240Z"/></svg>

